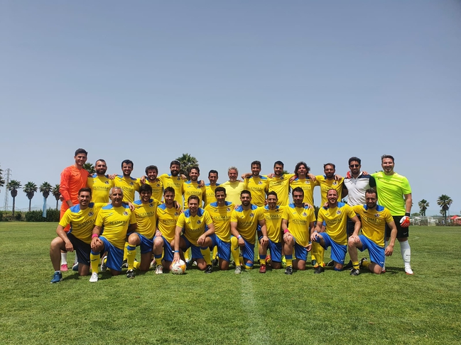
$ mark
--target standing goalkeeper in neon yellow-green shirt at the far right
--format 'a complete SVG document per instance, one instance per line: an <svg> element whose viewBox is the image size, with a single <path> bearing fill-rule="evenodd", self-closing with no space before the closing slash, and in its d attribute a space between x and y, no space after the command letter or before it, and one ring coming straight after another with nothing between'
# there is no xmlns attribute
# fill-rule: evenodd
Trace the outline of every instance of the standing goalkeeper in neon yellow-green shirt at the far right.
<svg viewBox="0 0 461 345"><path fill-rule="evenodd" d="M371 176L376 182L376 191L378 192L379 205L388 208L394 217L397 227L397 239L400 244L405 273L413 275L411 269L411 249L408 243L408 225L410 225L411 205L411 187L405 176L397 174L394 171L394 157L384 154L381 157L382 171L378 171ZM386 227L386 240L389 240L391 229Z"/></svg>

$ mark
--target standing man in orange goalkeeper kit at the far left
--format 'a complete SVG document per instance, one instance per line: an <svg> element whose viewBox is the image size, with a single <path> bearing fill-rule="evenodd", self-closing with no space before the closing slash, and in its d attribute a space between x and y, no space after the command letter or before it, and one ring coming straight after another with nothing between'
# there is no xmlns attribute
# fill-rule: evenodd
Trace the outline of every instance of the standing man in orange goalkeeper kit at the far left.
<svg viewBox="0 0 461 345"><path fill-rule="evenodd" d="M67 166L61 173L61 180L60 180L60 188L59 191L61 196L63 196L63 203L61 204L61 212L60 217L61 219L69 208L73 205L77 205L79 203L78 200L78 191L81 188L87 186L87 178L90 176L88 171L83 169L83 164L87 162L87 155L88 152L85 149L77 149L75 151L75 163L71 166ZM69 231L69 225L65 227L65 232ZM61 271L67 271L67 251L61 252Z"/></svg>

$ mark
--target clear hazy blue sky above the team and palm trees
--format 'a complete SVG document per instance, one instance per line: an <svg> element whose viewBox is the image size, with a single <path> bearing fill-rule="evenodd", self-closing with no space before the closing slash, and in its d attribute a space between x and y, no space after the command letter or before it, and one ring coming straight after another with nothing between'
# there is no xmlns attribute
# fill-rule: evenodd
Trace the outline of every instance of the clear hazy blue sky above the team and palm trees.
<svg viewBox="0 0 461 345"><path fill-rule="evenodd" d="M392 154L413 212L460 213L460 1L2 1L0 43L0 167L23 184L78 147L136 177L188 152L221 182Z"/></svg>

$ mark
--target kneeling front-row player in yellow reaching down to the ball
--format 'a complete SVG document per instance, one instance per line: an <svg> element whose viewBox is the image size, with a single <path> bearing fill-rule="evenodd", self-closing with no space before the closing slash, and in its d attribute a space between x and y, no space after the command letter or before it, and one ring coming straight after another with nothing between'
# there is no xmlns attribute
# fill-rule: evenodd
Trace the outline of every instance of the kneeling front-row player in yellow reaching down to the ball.
<svg viewBox="0 0 461 345"><path fill-rule="evenodd" d="M212 273L213 266L210 258L210 246L213 241L211 234L215 233L210 213L198 206L198 196L188 198L188 210L180 214L176 223L173 263L179 261L179 249L185 251L191 249L192 259L197 261L197 267L205 273ZM181 235L181 232L184 234Z"/></svg>

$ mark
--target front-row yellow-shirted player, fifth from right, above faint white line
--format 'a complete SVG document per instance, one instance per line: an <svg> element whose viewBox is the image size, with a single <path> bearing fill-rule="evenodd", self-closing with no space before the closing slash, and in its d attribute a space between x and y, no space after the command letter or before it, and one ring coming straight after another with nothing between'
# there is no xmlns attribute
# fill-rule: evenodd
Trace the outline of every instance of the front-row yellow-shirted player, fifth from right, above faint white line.
<svg viewBox="0 0 461 345"><path fill-rule="evenodd" d="M240 193L240 203L238 208L234 209L231 215L231 251L235 260L234 273L242 273L240 259L238 254L239 247L242 248L242 256L246 269L253 268L254 262L254 243L256 242L256 229L258 225L261 229L262 236L259 240L259 263L260 268L266 266L266 251L269 244L267 237L266 219L264 218L263 208L251 204L251 192L243 190ZM259 237L259 236L258 236ZM238 259L237 259L238 258ZM261 273L265 273L260 270Z"/></svg>

